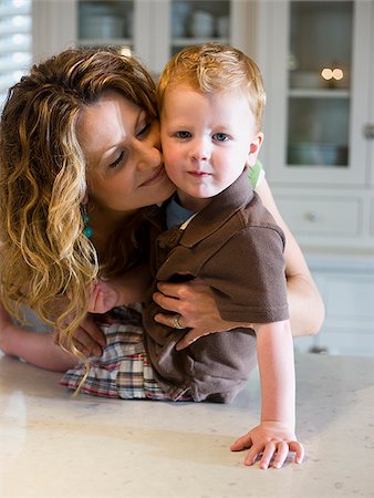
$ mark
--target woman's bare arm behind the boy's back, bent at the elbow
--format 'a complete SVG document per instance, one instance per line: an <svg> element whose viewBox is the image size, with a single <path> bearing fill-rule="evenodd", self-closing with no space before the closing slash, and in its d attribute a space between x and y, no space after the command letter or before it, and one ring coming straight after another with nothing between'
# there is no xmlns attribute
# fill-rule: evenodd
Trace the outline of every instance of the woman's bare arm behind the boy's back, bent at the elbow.
<svg viewBox="0 0 374 498"><path fill-rule="evenodd" d="M285 235L285 277L293 336L313 335L324 320L324 305L301 249L281 217L266 178L256 191Z"/></svg>

